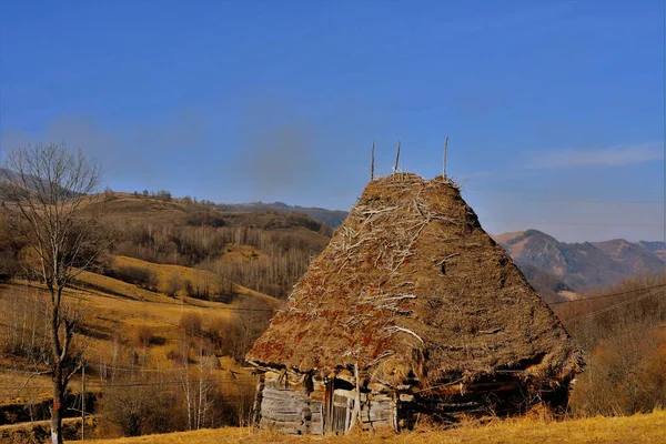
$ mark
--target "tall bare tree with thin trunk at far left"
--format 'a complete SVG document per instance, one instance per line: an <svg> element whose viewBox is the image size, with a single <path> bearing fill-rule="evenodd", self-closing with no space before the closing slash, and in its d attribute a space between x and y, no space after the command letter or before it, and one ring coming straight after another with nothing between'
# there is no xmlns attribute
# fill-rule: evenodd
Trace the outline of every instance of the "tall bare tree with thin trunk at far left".
<svg viewBox="0 0 666 444"><path fill-rule="evenodd" d="M33 250L34 272L50 295L49 370L42 373L52 376L51 442L60 444L65 389L83 365L83 350L72 344L80 316L63 301L63 291L104 250L98 214L88 205L100 169L80 151L72 153L54 143L17 149L4 167L0 196L13 232Z"/></svg>

